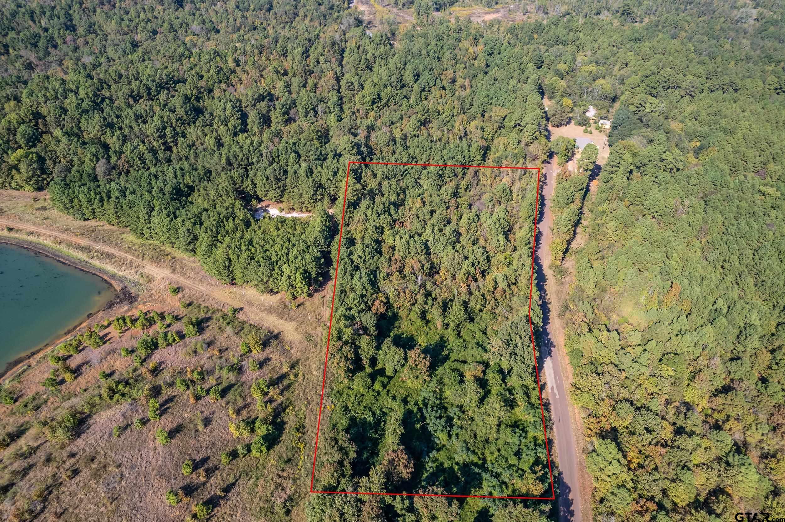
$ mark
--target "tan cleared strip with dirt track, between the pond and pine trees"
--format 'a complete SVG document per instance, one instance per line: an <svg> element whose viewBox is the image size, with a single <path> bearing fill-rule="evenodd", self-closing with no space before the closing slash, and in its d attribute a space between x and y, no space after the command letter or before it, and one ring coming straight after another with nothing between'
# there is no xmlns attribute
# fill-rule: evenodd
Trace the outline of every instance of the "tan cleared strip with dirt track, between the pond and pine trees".
<svg viewBox="0 0 785 522"><path fill-rule="evenodd" d="M122 227L78 221L57 212L46 192L0 190L0 227L12 229L5 234L48 243L115 274L141 281L145 287L160 291L177 285L184 288L186 297L212 306L240 308L239 317L279 332L293 346L305 343L308 334L319 336L319 330L303 328L303 324L324 321L323 292L293 302L283 294L263 295L254 288L224 285L207 275L197 259L183 252L140 240Z"/></svg>

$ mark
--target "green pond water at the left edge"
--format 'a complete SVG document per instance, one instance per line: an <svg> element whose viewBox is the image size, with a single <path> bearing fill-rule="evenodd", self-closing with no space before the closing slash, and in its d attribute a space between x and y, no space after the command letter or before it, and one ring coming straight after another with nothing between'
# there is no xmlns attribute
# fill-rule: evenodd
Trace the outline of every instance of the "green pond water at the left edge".
<svg viewBox="0 0 785 522"><path fill-rule="evenodd" d="M114 296L115 289L94 274L0 243L0 372L16 357L53 343Z"/></svg>

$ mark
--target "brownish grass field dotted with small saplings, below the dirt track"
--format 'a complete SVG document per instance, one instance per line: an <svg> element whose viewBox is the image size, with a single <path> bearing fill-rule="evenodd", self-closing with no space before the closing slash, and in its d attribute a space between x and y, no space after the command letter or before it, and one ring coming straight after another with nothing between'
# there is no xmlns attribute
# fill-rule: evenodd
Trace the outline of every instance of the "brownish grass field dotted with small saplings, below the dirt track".
<svg viewBox="0 0 785 522"><path fill-rule="evenodd" d="M199 335L161 347L139 364L121 350L133 352L143 332L117 335L101 328L104 346L83 346L66 356L64 363L75 372L72 382L42 386L56 367L40 357L5 383L16 401L0 406L3 520L186 520L200 503L212 509L210 520L300 518L310 479L306 395L314 390L304 386L303 368L290 346L262 331L264 350L243 354L243 336L257 332L249 324L207 306L159 310L176 316L166 331L183 332L182 319L194 317ZM144 334L155 337L158 328ZM266 380L268 393L257 404L250 389L259 379ZM188 390L181 389L183 383ZM196 386L206 391L217 386L220 400L199 397L198 391L193 396ZM120 387L125 390L109 398L106 390ZM157 421L149 419L151 398L161 407ZM79 423L70 439L52 440L47 430L65 411L75 412ZM134 427L136 419L144 426ZM256 434L234 437L229 422L254 426L255 419L270 426L263 437L268 451L241 456ZM157 430L168 433L168 444L156 440ZM221 462L222 452L231 462ZM181 466L188 459L193 472L184 476ZM170 506L166 491L182 501Z"/></svg>

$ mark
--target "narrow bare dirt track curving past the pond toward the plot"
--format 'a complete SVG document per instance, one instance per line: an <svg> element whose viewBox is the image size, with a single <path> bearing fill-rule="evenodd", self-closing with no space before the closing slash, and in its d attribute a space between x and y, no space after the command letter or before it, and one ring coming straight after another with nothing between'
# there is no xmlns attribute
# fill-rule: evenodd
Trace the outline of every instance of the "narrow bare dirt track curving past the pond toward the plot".
<svg viewBox="0 0 785 522"><path fill-rule="evenodd" d="M152 274L155 277L160 277L162 279L168 279L171 283L181 285L184 288L188 288L189 290L199 292L203 295L207 295L212 299L217 299L221 303L228 304L229 306L243 306L246 314L248 314L249 318L253 322L261 322L261 326L265 328L269 328L272 330L277 330L279 332L283 332L285 335L294 337L295 339L303 339L303 332L304 328L301 325L298 325L294 321L286 321L281 319L280 317L276 317L272 314L267 314L264 311L257 310L254 308L252 303L243 303L242 299L232 299L228 297L224 291L225 285L221 285L217 283L216 288L210 288L206 285L199 285L189 279L188 277L180 274L175 274L170 270L165 270L160 266L155 264L149 263L144 261L144 259L140 259L137 256L133 256L128 252L123 252L117 248L112 248L107 245L102 245L97 243L96 241L90 241L89 239L83 239L82 237L76 237L73 234L64 234L61 232L56 232L54 230L49 230L44 227L35 227L33 225L28 225L26 223L19 223L17 221L9 221L8 219L0 219L0 227L12 227L16 229L22 230L30 230L31 232L35 232L37 234L43 234L45 236L57 237L59 239L70 241L71 243L75 243L78 245L85 245L89 246L90 248L95 248L97 250L108 252L112 256L117 256L124 259L129 259L133 261L133 263L137 263L141 267L142 270Z"/></svg>

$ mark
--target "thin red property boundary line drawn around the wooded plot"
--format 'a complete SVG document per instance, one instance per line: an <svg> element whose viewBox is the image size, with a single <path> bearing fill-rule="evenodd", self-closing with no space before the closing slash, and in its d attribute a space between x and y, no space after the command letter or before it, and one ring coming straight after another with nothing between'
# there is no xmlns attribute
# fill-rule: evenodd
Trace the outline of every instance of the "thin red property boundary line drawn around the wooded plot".
<svg viewBox="0 0 785 522"><path fill-rule="evenodd" d="M535 227L531 246L531 274L529 275L529 332L531 333L531 352L535 357L535 375L537 376L537 391L540 401L540 415L542 416L542 433L545 435L545 451L548 459L548 473L550 474L550 497L502 497L493 495L444 495L436 493L386 493L376 491L316 491L313 489L313 479L316 476L316 451L319 449L319 428L322 426L322 406L324 403L324 385L327 382L327 357L330 354L330 338L333 332L333 310L335 308L335 288L338 285L338 263L341 260L341 241L343 238L343 224L346 213L346 194L349 190L349 172L352 165L402 165L412 167L455 167L458 169L516 169L516 170L536 170L537 171L537 192L535 196ZM537 349L535 348L535 332L531 324L531 293L534 288L535 280L535 251L537 249L537 211L539 209L539 167L502 167L495 165L435 165L432 163L389 163L384 161L349 161L346 166L346 181L344 183L344 202L341 209L341 228L338 231L338 254L335 259L335 276L333 277L333 301L330 305L330 326L327 328L327 350L324 352L324 370L322 372L322 395L319 398L319 420L316 422L316 444L313 448L313 466L311 469L311 488L310 493L331 493L339 495L396 495L396 496L416 496L416 497L458 497L458 498L520 498L524 500L555 500L556 490L553 488L553 469L550 464L550 449L548 448L548 432L545 425L545 408L542 406L542 386L540 385L539 369L537 368Z"/></svg>

